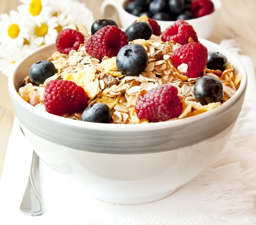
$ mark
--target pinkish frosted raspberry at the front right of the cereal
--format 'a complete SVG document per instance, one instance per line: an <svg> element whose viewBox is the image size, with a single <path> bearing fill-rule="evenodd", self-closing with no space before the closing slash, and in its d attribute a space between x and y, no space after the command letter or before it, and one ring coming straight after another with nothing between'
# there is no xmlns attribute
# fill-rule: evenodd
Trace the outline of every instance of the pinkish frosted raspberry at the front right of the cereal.
<svg viewBox="0 0 256 225"><path fill-rule="evenodd" d="M167 121L181 115L182 103L173 85L161 85L141 95L135 106L140 119L151 122Z"/></svg>

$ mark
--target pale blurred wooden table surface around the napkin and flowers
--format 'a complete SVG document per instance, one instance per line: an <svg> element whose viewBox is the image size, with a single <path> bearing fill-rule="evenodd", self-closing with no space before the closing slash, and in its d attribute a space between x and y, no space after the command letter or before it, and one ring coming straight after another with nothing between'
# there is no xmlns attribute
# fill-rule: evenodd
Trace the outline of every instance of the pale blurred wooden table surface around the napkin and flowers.
<svg viewBox="0 0 256 225"><path fill-rule="evenodd" d="M94 18L99 19L99 7L103 0L81 0L87 4L88 8L93 11ZM18 0L0 0L0 14L9 13L10 10L16 10L21 4ZM256 1L244 0L222 0L223 9L218 20L218 25L214 34L209 38L210 41L219 43L223 39L236 40L241 54L252 57L256 65ZM113 13L111 19L118 22L117 13ZM0 72L0 177L4 163L6 147L12 128L14 112L8 93L8 78Z"/></svg>

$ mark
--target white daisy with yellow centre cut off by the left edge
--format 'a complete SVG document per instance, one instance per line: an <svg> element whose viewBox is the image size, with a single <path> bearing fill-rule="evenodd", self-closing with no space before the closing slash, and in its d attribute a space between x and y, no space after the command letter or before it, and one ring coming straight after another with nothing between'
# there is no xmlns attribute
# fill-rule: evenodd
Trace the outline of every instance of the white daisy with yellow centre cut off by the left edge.
<svg viewBox="0 0 256 225"><path fill-rule="evenodd" d="M10 11L0 16L0 43L3 45L23 46L28 37L28 27L24 16L17 11Z"/></svg>

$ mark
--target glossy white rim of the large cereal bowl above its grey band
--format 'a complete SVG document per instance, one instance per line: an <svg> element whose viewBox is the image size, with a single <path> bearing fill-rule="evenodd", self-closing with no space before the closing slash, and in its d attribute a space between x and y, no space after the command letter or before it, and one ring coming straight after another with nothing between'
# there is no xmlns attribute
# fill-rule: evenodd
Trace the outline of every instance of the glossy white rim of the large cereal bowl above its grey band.
<svg viewBox="0 0 256 225"><path fill-rule="evenodd" d="M221 52L223 54L227 55L227 58L232 61L232 65L236 68L239 67L241 71L239 73L242 74L243 78L241 79L240 86L236 93L229 99L228 101L224 102L221 104L221 106L211 109L210 111L203 112L198 115L194 115L191 117L186 117L186 118L181 118L181 119L173 119L169 121L163 121L163 122L155 122L155 123L141 123L141 124L105 124L105 123L92 123L92 122L84 122L84 121L76 121L74 119L69 119L53 114L49 114L48 112L42 111L40 109L35 108L28 102L24 101L22 97L19 96L18 91L16 89L16 74L18 73L18 69L21 65L23 65L24 62L27 61L28 58L30 58L32 55L36 55L41 51L44 51L47 48L54 48L55 43L51 44L45 44L44 46L41 46L38 49L35 49L32 51L30 54L25 56L23 59L21 59L16 67L15 70L11 73L9 77L9 82L8 82L8 87L9 87L9 93L12 99L12 103L15 102L15 104L19 104L20 107L25 108L29 113L31 114L37 114L39 118L43 119L48 119L49 121L52 121L54 123L59 123L59 124L66 124L67 126L70 127L76 127L77 129L91 129L91 130L100 130L100 131L126 131L126 132L142 132L142 131L147 131L149 129L153 130L161 130L161 129L166 129L169 127L179 127L184 124L191 124L191 123L196 123L197 121L200 121L202 119L205 119L207 117L211 117L212 115L218 114L219 112L230 108L234 103L236 103L240 96L243 95L243 93L246 91L246 85L247 85L247 74L246 70L244 68L244 65L240 62L240 60L232 54L229 50L226 50L222 47L220 47L218 44L211 42L209 40L205 39L199 39L202 44L206 44L206 46L211 46L211 47L217 47L221 48ZM234 63L235 62L235 63Z"/></svg>

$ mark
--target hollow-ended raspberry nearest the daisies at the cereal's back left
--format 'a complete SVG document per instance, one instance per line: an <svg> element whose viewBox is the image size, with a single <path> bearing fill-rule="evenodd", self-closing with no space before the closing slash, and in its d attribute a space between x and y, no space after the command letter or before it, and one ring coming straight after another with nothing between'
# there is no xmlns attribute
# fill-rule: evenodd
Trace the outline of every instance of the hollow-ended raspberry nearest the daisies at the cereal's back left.
<svg viewBox="0 0 256 225"><path fill-rule="evenodd" d="M56 48L60 53L68 54L72 49L79 49L84 42L84 36L75 29L62 29L56 38Z"/></svg>

